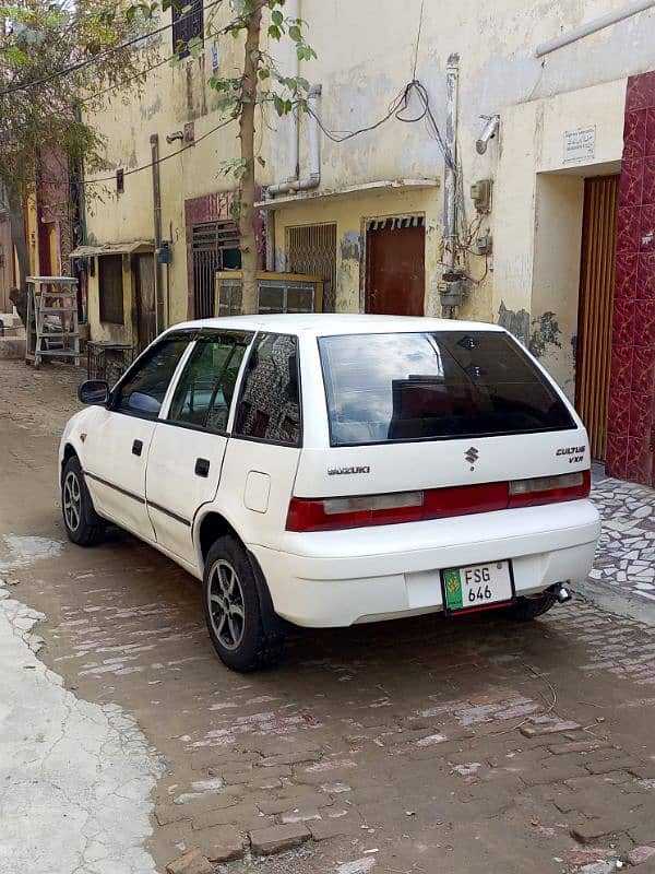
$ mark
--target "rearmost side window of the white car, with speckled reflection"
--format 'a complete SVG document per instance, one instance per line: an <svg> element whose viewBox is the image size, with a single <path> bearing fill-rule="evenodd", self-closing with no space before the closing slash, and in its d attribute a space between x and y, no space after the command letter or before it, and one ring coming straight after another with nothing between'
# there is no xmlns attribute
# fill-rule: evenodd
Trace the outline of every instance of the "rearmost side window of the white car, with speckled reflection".
<svg viewBox="0 0 655 874"><path fill-rule="evenodd" d="M237 410L235 436L300 446L298 340L260 334L254 342Z"/></svg>

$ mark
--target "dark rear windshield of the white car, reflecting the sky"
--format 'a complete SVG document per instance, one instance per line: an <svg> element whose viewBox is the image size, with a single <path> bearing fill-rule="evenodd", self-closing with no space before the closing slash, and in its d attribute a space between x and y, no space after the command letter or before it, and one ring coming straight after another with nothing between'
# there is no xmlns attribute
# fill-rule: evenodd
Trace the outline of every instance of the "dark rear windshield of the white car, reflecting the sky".
<svg viewBox="0 0 655 874"><path fill-rule="evenodd" d="M500 331L319 339L330 441L360 446L574 428L521 346Z"/></svg>

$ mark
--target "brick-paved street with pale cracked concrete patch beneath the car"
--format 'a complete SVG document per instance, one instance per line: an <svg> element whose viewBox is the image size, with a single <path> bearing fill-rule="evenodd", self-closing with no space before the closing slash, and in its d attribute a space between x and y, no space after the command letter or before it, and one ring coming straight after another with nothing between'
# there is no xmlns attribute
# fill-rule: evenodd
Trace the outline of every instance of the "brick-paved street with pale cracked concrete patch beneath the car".
<svg viewBox="0 0 655 874"><path fill-rule="evenodd" d="M230 673L193 579L119 532L66 542L75 378L20 368L0 371L3 874L163 872L189 850L229 874L600 874L655 847L639 610L300 633L278 669Z"/></svg>

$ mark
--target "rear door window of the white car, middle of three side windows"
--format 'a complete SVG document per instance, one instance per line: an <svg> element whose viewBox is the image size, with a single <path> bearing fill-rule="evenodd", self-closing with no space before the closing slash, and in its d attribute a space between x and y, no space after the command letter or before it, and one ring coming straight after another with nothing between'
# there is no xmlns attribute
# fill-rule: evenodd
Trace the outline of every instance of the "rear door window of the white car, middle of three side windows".
<svg viewBox="0 0 655 874"><path fill-rule="evenodd" d="M199 336L179 379L168 420L224 433L243 355L252 334Z"/></svg>

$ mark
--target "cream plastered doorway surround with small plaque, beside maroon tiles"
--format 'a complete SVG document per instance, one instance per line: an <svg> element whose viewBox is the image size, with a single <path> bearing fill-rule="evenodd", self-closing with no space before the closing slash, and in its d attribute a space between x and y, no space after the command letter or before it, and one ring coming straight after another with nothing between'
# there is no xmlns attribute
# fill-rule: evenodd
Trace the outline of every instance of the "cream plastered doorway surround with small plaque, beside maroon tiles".
<svg viewBox="0 0 655 874"><path fill-rule="evenodd" d="M573 400L584 178L618 173L626 81L503 113L493 210L492 310ZM563 134L594 126L594 160L567 165Z"/></svg>

